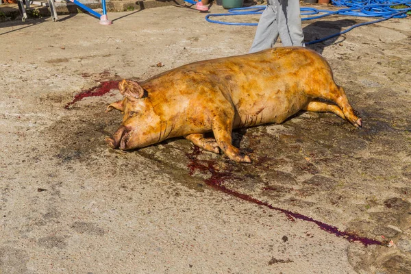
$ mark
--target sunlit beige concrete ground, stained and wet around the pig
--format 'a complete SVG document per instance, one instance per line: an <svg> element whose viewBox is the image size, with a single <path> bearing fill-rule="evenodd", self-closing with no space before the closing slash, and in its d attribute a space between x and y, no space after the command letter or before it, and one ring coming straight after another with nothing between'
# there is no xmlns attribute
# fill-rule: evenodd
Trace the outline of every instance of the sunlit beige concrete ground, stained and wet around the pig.
<svg viewBox="0 0 411 274"><path fill-rule="evenodd" d="M311 47L363 129L302 113L234 132L253 164L183 139L108 148L116 90L64 108L104 81L247 53L254 27L204 15L176 5L109 14L111 26L86 14L0 23L0 273L411 273L410 17ZM313 40L366 20L303 27Z"/></svg>

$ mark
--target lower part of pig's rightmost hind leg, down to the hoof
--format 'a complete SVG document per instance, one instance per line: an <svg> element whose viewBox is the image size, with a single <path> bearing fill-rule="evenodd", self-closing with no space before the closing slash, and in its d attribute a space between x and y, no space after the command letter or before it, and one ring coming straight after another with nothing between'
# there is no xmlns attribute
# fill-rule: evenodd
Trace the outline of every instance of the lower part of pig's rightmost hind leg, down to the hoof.
<svg viewBox="0 0 411 274"><path fill-rule="evenodd" d="M348 102L347 95L345 95L343 87L334 85L334 87L332 86L332 88L329 89L329 92L323 94L321 97L336 103L341 110L343 110L345 119L347 119L351 124L356 127L362 126L362 121L360 117L354 114L354 110Z"/></svg>

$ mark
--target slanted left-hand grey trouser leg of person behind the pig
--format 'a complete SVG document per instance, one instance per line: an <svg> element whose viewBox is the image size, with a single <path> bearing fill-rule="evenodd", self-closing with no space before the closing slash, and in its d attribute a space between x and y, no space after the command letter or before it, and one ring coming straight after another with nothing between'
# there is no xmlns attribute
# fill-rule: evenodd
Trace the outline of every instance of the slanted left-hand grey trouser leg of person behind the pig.
<svg viewBox="0 0 411 274"><path fill-rule="evenodd" d="M270 49L278 38L277 12L273 3L274 0L269 0L269 5L261 14L249 53Z"/></svg>

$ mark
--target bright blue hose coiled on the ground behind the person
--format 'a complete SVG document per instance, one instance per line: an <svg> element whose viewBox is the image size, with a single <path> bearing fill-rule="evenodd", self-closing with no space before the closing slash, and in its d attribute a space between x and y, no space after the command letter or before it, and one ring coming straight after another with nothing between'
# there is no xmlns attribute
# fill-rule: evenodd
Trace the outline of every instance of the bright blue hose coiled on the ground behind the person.
<svg viewBox="0 0 411 274"><path fill-rule="evenodd" d="M306 45L312 45L318 42L323 42L330 38L340 36L349 32L351 29L360 27L362 25L370 25L382 21L386 21L390 18L404 18L407 16L407 12L411 12L411 1L404 0L332 0L332 4L337 7L348 7L340 10L318 10L316 8L300 8L301 16L308 16L301 18L301 21L313 20L318 18L323 18L325 16L341 14L347 16L362 16L362 17L381 17L378 20L360 23L345 29L343 32L338 32L330 36L306 42ZM408 8L394 9L395 5L406 5ZM222 14L208 14L206 16L206 21L210 23L222 24L222 25L246 25L246 26L256 26L258 23L233 23L233 22L223 22L210 19L210 17L218 16L234 16L234 15L251 15L251 14L262 14L265 10L265 5L256 5L248 8L233 8L228 10L229 13ZM317 16L309 16L314 14L320 14Z"/></svg>

